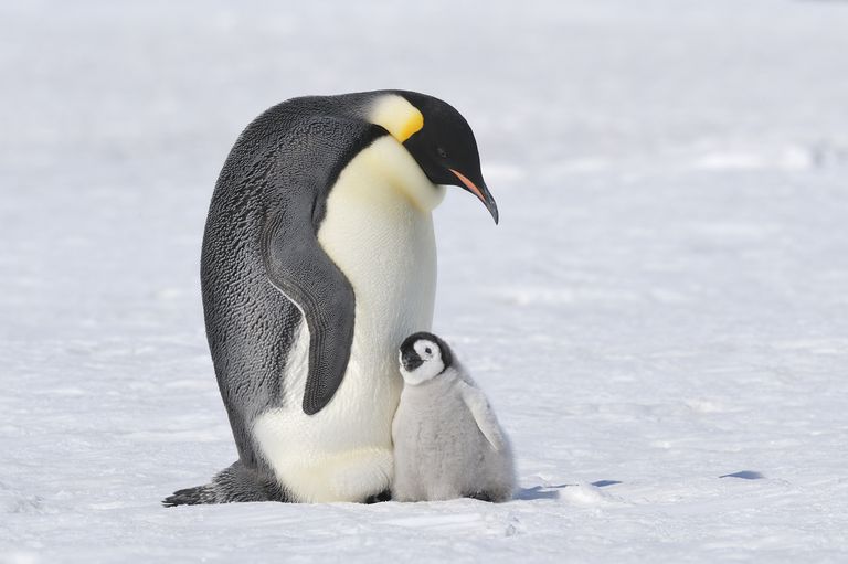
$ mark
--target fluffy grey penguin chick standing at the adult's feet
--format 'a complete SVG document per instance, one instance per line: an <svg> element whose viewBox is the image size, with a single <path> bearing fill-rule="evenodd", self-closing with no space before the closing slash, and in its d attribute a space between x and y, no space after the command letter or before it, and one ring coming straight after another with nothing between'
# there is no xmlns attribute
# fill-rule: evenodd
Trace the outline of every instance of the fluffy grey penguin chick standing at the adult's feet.
<svg viewBox="0 0 848 564"><path fill-rule="evenodd" d="M400 363L404 387L392 422L392 499L511 499L509 441L447 343L432 333L412 334L401 345Z"/></svg>

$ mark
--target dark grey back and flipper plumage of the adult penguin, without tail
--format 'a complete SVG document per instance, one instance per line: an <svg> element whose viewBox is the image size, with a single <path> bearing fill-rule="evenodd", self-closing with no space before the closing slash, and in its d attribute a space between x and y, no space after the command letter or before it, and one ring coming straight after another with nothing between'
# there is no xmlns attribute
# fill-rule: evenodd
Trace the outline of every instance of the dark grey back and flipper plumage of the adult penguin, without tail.
<svg viewBox="0 0 848 564"><path fill-rule="evenodd" d="M386 135L356 117L364 103L357 95L310 97L268 109L241 134L215 184L201 255L206 337L240 457L251 466L257 457L250 425L280 405L282 376L301 319L280 289L305 304L307 317L325 310L310 327L318 340L310 343L310 369L324 364L340 382L347 366L353 292L316 248L316 233L340 171ZM320 287L317 296L304 295L309 284ZM310 298L319 302L307 304ZM332 333L330 342L324 332ZM316 413L336 389L310 380L304 409Z"/></svg>

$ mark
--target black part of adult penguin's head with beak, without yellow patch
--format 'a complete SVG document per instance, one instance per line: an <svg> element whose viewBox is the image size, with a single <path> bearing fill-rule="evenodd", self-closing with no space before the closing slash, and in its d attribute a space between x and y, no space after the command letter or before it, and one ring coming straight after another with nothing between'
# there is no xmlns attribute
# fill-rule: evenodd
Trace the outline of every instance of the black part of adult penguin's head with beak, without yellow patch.
<svg viewBox="0 0 848 564"><path fill-rule="evenodd" d="M434 184L456 185L476 195L498 223L498 206L486 188L480 156L468 121L453 106L414 92L398 92L424 117L403 146Z"/></svg>

